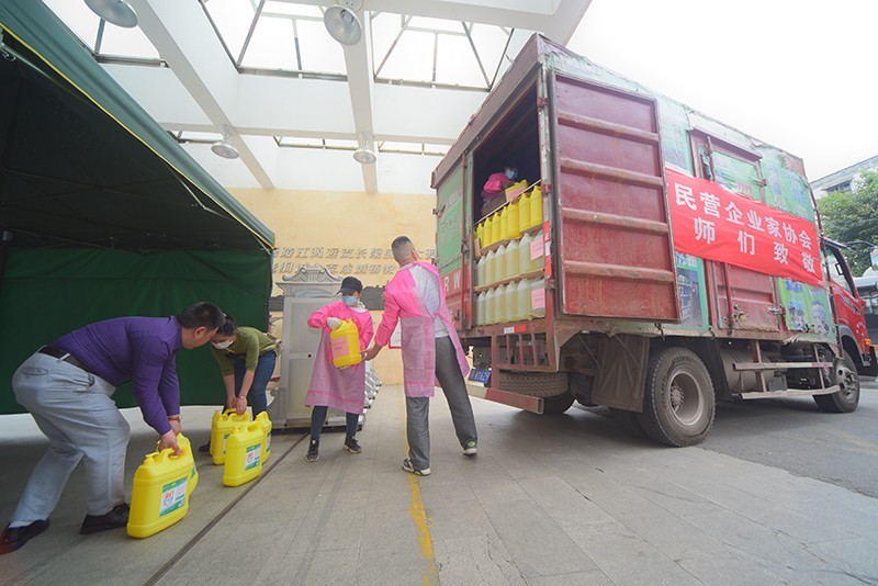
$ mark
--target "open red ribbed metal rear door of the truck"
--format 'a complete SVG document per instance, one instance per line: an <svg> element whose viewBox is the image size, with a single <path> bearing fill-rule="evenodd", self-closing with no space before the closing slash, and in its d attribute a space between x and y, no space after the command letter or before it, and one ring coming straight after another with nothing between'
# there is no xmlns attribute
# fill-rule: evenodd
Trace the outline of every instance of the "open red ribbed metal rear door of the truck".
<svg viewBox="0 0 878 586"><path fill-rule="evenodd" d="M655 101L551 77L561 311L678 322Z"/></svg>

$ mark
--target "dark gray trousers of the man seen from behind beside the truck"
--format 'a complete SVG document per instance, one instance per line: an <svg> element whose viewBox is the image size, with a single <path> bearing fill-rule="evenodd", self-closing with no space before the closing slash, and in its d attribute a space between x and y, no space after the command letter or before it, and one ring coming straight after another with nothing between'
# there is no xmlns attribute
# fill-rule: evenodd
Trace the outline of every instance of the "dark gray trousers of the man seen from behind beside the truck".
<svg viewBox="0 0 878 586"><path fill-rule="evenodd" d="M461 448L470 440L477 441L473 406L460 373L454 345L448 336L436 338L436 379L446 394ZM408 459L415 470L430 467L430 397L405 397L405 412Z"/></svg>

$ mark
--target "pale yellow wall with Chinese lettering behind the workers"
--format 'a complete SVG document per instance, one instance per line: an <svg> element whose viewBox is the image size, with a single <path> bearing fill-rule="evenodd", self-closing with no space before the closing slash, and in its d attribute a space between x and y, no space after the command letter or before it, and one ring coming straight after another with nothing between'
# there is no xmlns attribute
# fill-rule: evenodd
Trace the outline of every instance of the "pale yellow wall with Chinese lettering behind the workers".
<svg viewBox="0 0 878 586"><path fill-rule="evenodd" d="M412 238L423 258L435 255L432 195L362 192L305 192L235 189L228 191L274 232L274 281L302 264L322 264L339 279L357 277L365 286L385 285L397 264L390 245ZM272 295L280 295L274 288ZM375 327L381 312L372 312ZM280 324L273 331L280 333ZM402 383L399 351L385 349L375 359L384 384Z"/></svg>

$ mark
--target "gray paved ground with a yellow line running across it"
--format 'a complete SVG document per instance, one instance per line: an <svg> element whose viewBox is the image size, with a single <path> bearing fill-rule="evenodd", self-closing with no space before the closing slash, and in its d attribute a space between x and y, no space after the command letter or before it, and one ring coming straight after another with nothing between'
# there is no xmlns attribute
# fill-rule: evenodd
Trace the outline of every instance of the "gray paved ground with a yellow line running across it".
<svg viewBox="0 0 878 586"><path fill-rule="evenodd" d="M275 435L262 476L226 488L196 459L188 516L144 540L79 536L81 470L52 528L0 556L0 584L878 584L878 500L701 448L630 438L572 408L543 417L473 399L479 455L465 458L440 396L432 475L399 470L399 387L383 387L359 433ZM212 410L184 409L195 446ZM133 424L128 484L155 436ZM30 416L0 419L0 517L45 442ZM844 426L842 418L838 425Z"/></svg>

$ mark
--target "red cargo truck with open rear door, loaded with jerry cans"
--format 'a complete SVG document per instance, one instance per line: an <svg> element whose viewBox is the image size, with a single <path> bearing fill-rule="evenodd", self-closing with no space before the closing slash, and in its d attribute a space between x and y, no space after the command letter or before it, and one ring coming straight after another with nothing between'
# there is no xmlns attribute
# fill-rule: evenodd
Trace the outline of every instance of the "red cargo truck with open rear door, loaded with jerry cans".
<svg viewBox="0 0 878 586"><path fill-rule="evenodd" d="M482 187L516 167L506 203ZM470 393L669 446L716 399L856 409L878 374L802 161L534 35L432 174ZM836 282L837 281L837 282Z"/></svg>

